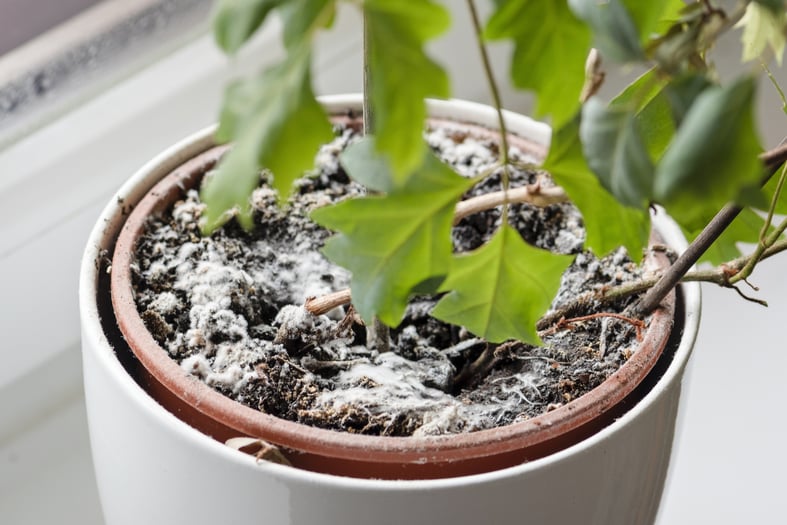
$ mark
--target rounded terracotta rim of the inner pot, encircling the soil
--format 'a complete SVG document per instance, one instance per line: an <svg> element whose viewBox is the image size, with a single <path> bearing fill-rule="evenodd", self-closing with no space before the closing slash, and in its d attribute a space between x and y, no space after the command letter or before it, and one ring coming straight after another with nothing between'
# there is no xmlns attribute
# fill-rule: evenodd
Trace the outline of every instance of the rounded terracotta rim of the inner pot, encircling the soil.
<svg viewBox="0 0 787 525"><path fill-rule="evenodd" d="M168 183L165 179L149 194L156 196L179 190L184 177L188 177L195 169L204 170L223 150L222 147L211 148L198 155L175 170L174 183ZM123 312L118 315L119 323L130 346L148 370L185 401L197 405L206 413L227 414L224 416L225 422L230 426L290 449L310 452L320 450L320 453L347 459L365 457L374 451L375 461L419 462L451 461L465 458L468 454L484 456L501 450L520 448L531 442L548 441L562 433L566 427L573 428L584 424L593 415L604 412L626 397L655 364L666 344L667 336L664 334L669 334L672 324L673 306L657 312L645 332L640 349L602 385L571 403L524 422L473 433L434 437L379 437L315 428L241 405L215 392L199 380L187 376L146 330L137 313L128 280L134 241L127 239L130 232L139 231L138 226L136 229L131 226L135 224L134 220L142 218L138 224L144 223L144 217L155 206L157 205L154 202L147 204L143 199L135 207L118 239L113 260L113 302L116 311ZM657 342L657 339L660 342ZM611 397L605 397L606 394L611 394ZM493 450L486 451L487 447ZM327 449L327 452L323 449Z"/></svg>

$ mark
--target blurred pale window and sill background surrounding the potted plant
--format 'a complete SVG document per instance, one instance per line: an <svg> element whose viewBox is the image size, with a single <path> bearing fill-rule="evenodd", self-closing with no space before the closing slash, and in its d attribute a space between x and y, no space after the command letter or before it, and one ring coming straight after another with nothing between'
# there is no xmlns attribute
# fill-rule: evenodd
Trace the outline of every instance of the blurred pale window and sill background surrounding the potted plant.
<svg viewBox="0 0 787 525"><path fill-rule="evenodd" d="M432 52L453 94L488 102L478 53L452 32ZM482 2L479 2L482 4ZM223 86L281 56L268 24L238 56L209 34L210 0L0 0L0 522L101 524L81 385L78 269L115 189L168 145L209 125ZM342 12L317 46L321 94L361 88L358 20ZM714 54L740 71L738 33ZM509 49L493 46L498 77ZM555 68L561 67L555 64ZM633 71L612 72L613 92ZM776 70L784 83L787 75ZM510 86L510 109L530 98ZM760 86L765 147L787 135L776 91ZM751 281L769 308L705 286L700 337L660 525L784 523L787 318L783 261ZM123 451L119 450L118 454ZM614 475L614 473L602 473Z"/></svg>

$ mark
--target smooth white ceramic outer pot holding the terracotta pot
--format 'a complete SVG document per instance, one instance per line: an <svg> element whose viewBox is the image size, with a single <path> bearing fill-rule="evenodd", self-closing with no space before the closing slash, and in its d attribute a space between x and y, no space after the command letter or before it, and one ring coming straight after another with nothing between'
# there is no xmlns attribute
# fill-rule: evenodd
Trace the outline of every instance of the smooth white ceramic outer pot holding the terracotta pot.
<svg viewBox="0 0 787 525"><path fill-rule="evenodd" d="M329 111L358 96L323 99ZM430 115L494 127L496 114L463 101L430 102ZM549 128L507 115L511 132L548 144ZM209 148L212 129L165 151L137 172L104 210L82 261L80 313L90 440L108 525L293 524L632 525L655 519L669 465L681 381L699 325L699 285L683 286L683 335L650 392L592 437L545 458L444 480L344 478L259 462L167 412L128 375L102 328L97 261L125 213L163 175ZM664 218L666 241L685 241Z"/></svg>

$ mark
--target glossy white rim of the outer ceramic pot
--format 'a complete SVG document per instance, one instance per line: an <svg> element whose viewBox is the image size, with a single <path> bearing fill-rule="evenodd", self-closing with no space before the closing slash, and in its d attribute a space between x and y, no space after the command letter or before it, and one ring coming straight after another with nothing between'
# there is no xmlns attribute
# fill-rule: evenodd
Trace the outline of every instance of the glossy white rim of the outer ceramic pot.
<svg viewBox="0 0 787 525"><path fill-rule="evenodd" d="M357 96L331 97L332 101L339 100L342 105L346 104L347 100L352 101L355 98ZM259 471L261 475L270 475L283 482L318 483L326 487L347 490L447 490L468 484L505 482L523 475L537 475L544 468L569 461L576 455L590 453L601 444L613 439L615 435L624 432L640 418L646 417L646 414L653 410L654 403L671 392L676 387L676 383L680 383L699 329L701 289L698 283L686 283L679 287L682 291L683 308L680 322L676 325L678 331L673 335L676 339L674 356L652 388L637 404L610 423L609 426L587 439L549 456L498 470L459 477L388 480L352 478L293 469L270 463L259 463L253 456L238 453L226 447L162 408L133 379L127 368L118 359L115 351L117 342L114 336L104 329L105 323L113 324L114 321L107 318L107 312L101 305L101 301L98 300L100 282L104 279L105 269L100 261L104 259L107 250L111 251L114 246L117 232L126 215L126 206L133 205L139 200L140 196L147 192L163 173L171 171L172 167L178 163L178 159L193 156L211 147L210 137L214 131L215 125L211 125L169 147L147 162L124 183L116 196L109 200L90 233L82 258L79 284L83 347L84 351L89 354L91 362L94 362L94 366L103 369L109 378L117 382L119 388L127 392L129 398L139 406L140 410L144 410L149 415L152 423L168 427L173 436L193 443L202 453L220 457L223 461ZM677 251L686 248L686 241L679 228L668 217L663 213L657 213L654 222L670 246Z"/></svg>

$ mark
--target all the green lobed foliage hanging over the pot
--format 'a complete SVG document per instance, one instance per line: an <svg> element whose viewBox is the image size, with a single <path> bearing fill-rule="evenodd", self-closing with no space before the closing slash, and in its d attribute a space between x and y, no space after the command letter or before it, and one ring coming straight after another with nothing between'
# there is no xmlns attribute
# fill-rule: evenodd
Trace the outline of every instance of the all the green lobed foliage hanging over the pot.
<svg viewBox="0 0 787 525"><path fill-rule="evenodd" d="M285 58L229 87L217 139L234 147L202 190L205 231L236 216L251 226L248 195L259 170L284 199L331 138L311 80L312 41L329 27L340 0L219 0L214 33L235 53L273 13L283 27ZM445 293L434 315L493 342L538 343L535 321L557 289L568 258L528 246L503 225L469 254L451 253L455 205L473 181L429 153L422 133L424 98L447 97L446 72L428 44L450 25L435 0L361 0L370 74L371 132L342 155L348 173L370 191L314 212L338 232L326 254L348 268L353 303L368 322L399 322L414 293ZM513 45L510 77L550 116L544 163L577 205L586 247L604 255L625 246L636 260L649 233L649 208L664 205L689 236L722 206L747 208L705 254L718 264L757 242L773 183L763 170L748 76L720 84L708 50L734 21L743 28L743 58L781 60L787 16L781 0L753 0L723 13L683 0L493 0L487 40ZM745 14L744 9L745 8ZM729 15L729 16L728 16ZM359 28L360 31L360 28ZM470 38L471 36L469 36ZM591 43L605 61L648 71L610 103L580 94ZM479 74L482 74L479 69ZM787 197L776 204L787 212Z"/></svg>

